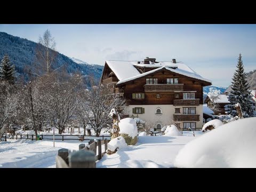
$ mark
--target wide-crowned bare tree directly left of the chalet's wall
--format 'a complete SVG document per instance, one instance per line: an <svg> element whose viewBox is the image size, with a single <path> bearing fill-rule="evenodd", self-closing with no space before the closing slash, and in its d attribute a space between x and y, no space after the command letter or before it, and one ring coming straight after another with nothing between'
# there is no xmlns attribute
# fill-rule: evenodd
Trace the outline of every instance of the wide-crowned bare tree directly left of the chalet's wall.
<svg viewBox="0 0 256 192"><path fill-rule="evenodd" d="M107 86L93 86L91 90L84 90L79 94L77 106L80 117L87 125L90 125L97 136L103 128L110 128L112 119L109 117L110 110L115 108L122 114L125 100L111 92Z"/></svg>

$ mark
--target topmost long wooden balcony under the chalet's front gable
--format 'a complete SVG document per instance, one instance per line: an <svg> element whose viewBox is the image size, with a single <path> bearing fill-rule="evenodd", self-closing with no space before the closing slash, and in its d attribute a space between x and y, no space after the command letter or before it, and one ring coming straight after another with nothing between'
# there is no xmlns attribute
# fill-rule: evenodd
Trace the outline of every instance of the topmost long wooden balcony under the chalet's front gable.
<svg viewBox="0 0 256 192"><path fill-rule="evenodd" d="M183 91L183 84L146 84L145 91Z"/></svg>

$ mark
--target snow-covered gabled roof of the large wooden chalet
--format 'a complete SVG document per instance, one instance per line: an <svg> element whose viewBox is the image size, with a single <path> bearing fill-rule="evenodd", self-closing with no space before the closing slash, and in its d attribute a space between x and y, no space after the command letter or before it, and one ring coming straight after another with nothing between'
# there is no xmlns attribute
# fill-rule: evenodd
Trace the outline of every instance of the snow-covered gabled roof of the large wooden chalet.
<svg viewBox="0 0 256 192"><path fill-rule="evenodd" d="M140 64L138 64L138 61L106 61L106 63L111 68L111 70L113 70L113 72L119 79L119 82L117 84L128 82L133 79L137 79L139 77L142 77L157 71L156 69L154 69L146 73L143 73L142 75L135 68L135 66L152 67L152 68L157 68L158 70L161 68L165 68L167 70L170 70L180 75L185 75L187 77L192 77L192 78L196 78L196 79L211 83L209 79L203 78L202 76L197 74L196 71L194 71L193 69L191 69L190 67L188 67L182 62L173 63L171 61L161 61L161 62L154 63L150 61L150 64L143 64L143 61L140 61Z"/></svg>

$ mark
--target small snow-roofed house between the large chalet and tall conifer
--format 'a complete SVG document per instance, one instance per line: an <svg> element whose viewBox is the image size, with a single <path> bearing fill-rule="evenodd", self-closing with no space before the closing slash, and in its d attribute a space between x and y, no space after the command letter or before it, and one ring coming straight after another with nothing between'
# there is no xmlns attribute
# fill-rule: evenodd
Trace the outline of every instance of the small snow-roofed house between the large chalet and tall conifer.
<svg viewBox="0 0 256 192"><path fill-rule="evenodd" d="M218 98L215 99L214 101L215 103L217 103L218 107L218 111L214 115L225 115L227 114L225 111L225 105L230 104L230 101L228 100L228 92L226 91L224 94L219 94ZM207 103L208 107L212 107L213 106L213 100L211 98L211 94L208 94L206 99L205 99L205 103Z"/></svg>

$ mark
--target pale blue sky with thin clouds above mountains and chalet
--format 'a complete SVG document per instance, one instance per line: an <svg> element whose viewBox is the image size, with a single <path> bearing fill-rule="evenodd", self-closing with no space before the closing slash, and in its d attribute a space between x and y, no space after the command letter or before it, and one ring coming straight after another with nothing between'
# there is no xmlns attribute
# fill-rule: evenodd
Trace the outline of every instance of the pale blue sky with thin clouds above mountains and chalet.
<svg viewBox="0 0 256 192"><path fill-rule="evenodd" d="M256 69L256 25L0 25L0 31L35 42L46 29L57 51L98 65L175 58L216 86L230 85L239 53L246 72Z"/></svg>

